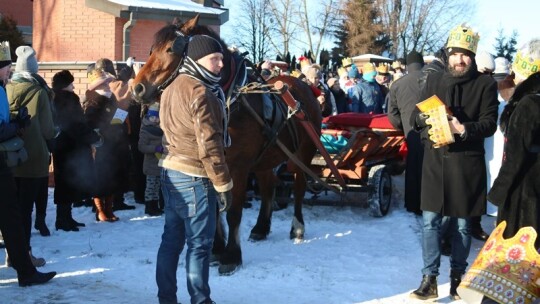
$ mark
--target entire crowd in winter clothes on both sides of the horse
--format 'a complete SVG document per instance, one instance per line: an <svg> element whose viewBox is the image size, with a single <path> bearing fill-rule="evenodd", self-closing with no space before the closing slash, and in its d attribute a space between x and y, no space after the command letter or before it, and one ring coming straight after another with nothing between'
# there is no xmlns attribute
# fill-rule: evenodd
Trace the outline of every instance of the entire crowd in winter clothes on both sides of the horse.
<svg viewBox="0 0 540 304"><path fill-rule="evenodd" d="M482 215L506 221L505 237L540 224L540 40L519 49L513 63L477 52L478 40L478 33L460 25L428 64L417 51L404 62L367 62L360 68L345 58L334 76L302 57L300 68L290 73L310 86L323 116L387 113L394 128L404 132L405 208L423 223L422 280L411 293L420 300L438 297L445 253L450 296L460 298L457 287L467 271L471 236L489 237ZM219 42L192 37L177 79L161 102L143 108L130 100L131 58L119 71L106 58L90 65L81 98L68 70L54 75L52 88L47 85L31 47L17 48L11 77L9 44L2 43L0 51L0 142L19 136L28 154L14 167L0 158L0 230L19 285L45 283L56 275L36 270L45 259L33 255L30 239L34 205L34 228L50 235L45 218L52 161L56 230L85 226L73 219L74 204L93 206L96 221L118 221L115 211L135 208L124 202L124 193L133 191L146 214L165 213L156 267L160 303L177 302L176 270L184 243L192 303L212 303L208 267L214 210L219 203L223 209L230 205L233 187L225 163L230 138L218 84ZM265 79L279 73L271 61L262 63L260 72ZM443 121L417 106L434 95L446 111ZM450 143L434 140L439 124L448 126Z"/></svg>

